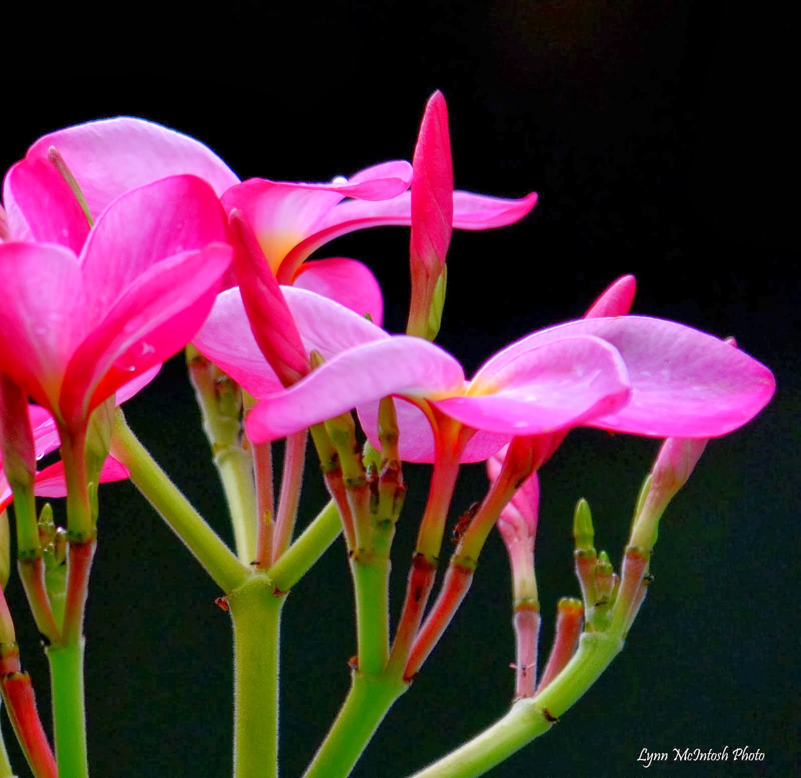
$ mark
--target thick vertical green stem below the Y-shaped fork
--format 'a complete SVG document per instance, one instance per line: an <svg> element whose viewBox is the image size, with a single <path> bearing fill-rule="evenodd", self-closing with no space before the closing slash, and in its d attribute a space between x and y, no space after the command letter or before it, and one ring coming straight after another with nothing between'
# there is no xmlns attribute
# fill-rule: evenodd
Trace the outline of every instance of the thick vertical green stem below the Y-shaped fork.
<svg viewBox="0 0 801 778"><path fill-rule="evenodd" d="M234 778L276 778L284 598L270 578L256 574L227 600L234 625Z"/></svg>

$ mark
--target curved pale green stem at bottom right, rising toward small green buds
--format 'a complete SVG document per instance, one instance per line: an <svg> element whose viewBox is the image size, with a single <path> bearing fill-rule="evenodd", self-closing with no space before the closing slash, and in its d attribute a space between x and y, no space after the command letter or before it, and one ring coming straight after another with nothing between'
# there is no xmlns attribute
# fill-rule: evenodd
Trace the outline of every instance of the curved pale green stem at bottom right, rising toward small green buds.
<svg viewBox="0 0 801 778"><path fill-rule="evenodd" d="M473 740L412 778L475 778L547 732L602 674L622 649L619 635L585 632L578 651L540 694L519 699Z"/></svg>

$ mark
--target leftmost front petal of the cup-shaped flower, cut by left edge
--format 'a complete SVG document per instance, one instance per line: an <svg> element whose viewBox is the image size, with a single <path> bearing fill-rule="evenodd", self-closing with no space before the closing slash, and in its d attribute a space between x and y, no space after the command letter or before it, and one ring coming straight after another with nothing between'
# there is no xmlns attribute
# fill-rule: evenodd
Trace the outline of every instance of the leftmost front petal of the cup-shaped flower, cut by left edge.
<svg viewBox="0 0 801 778"><path fill-rule="evenodd" d="M0 244L0 370L56 407L64 369L87 332L78 257L54 244Z"/></svg>

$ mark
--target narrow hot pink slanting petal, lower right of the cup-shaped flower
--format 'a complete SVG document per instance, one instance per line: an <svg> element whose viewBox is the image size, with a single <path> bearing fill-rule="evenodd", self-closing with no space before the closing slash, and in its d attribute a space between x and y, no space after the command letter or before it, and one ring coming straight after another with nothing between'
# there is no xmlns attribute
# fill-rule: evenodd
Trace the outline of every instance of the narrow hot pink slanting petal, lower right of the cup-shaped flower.
<svg viewBox="0 0 801 778"><path fill-rule="evenodd" d="M231 263L231 247L210 244L144 272L74 353L60 405L83 418L139 373L182 349L203 324Z"/></svg>

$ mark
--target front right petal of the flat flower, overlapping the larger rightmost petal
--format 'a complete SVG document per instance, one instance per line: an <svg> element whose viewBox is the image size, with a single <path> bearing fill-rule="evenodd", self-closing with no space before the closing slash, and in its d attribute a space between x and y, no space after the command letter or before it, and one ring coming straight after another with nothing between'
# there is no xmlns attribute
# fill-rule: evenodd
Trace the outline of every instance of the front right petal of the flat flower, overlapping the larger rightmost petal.
<svg viewBox="0 0 801 778"><path fill-rule="evenodd" d="M613 346L596 337L572 337L518 353L481 394L435 401L443 413L473 429L541 435L586 423L626 405L626 365Z"/></svg>

